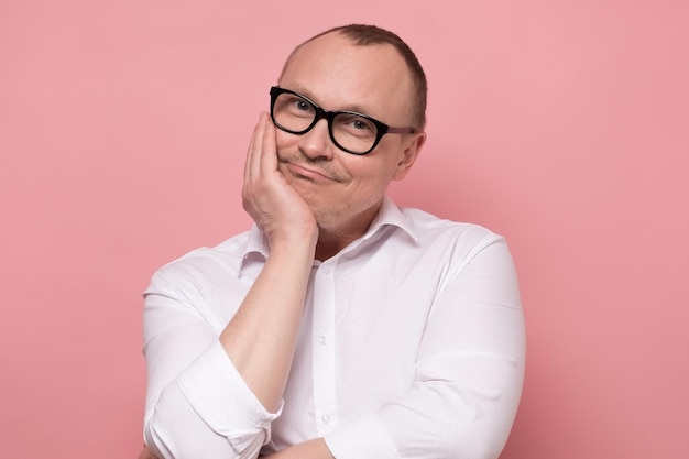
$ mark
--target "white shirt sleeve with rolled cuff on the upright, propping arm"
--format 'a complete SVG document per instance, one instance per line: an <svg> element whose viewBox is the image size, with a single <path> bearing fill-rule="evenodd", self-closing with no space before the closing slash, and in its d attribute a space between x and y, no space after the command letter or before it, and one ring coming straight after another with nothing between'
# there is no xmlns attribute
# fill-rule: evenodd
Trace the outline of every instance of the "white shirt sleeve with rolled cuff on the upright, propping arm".
<svg viewBox="0 0 689 459"><path fill-rule="evenodd" d="M161 458L255 458L270 438L269 413L218 337L198 282L158 271L144 292L147 370L144 438Z"/></svg>

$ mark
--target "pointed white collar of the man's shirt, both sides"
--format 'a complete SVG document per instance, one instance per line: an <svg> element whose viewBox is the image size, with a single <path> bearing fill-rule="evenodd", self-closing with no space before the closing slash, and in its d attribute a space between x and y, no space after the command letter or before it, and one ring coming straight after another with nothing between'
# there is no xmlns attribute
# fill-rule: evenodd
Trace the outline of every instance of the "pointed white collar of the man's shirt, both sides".
<svg viewBox="0 0 689 459"><path fill-rule="evenodd" d="M386 227L397 227L403 230L414 241L414 243L418 242L418 236L416 234L417 230L413 228L413 226L409 223L409 220L407 220L407 218L405 217L404 211L400 207L397 207L397 205L389 196L385 196L383 198L381 209L371 222L371 226L369 227L367 232L352 244L358 244L360 242L380 237L380 234ZM244 263L250 260L265 261L267 259L267 255L269 245L267 241L265 240L265 236L259 229L259 227L253 223L251 226L251 229L249 230L249 237L247 239L247 244L244 248L244 256L241 259L241 266L243 266Z"/></svg>

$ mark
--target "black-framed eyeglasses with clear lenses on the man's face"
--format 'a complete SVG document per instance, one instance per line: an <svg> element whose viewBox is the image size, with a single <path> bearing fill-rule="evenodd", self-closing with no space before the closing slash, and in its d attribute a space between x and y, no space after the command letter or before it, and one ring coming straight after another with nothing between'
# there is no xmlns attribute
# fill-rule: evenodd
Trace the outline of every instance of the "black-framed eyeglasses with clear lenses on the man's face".
<svg viewBox="0 0 689 459"><path fill-rule="evenodd" d="M307 133L325 118L332 143L359 155L371 153L385 134L416 132L414 128L391 128L356 111L324 110L306 96L277 86L271 88L271 118L275 127L296 135Z"/></svg>

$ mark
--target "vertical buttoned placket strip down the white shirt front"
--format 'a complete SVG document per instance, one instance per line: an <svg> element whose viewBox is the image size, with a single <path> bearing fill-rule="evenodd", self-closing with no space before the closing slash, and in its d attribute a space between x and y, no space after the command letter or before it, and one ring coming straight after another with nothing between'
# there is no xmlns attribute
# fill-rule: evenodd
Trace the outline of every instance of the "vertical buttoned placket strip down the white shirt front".
<svg viewBox="0 0 689 459"><path fill-rule="evenodd" d="M311 336L314 404L318 436L337 424L335 376L335 260L322 263L314 283L314 328Z"/></svg>

